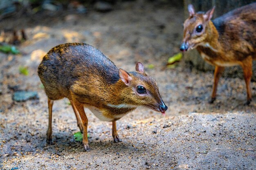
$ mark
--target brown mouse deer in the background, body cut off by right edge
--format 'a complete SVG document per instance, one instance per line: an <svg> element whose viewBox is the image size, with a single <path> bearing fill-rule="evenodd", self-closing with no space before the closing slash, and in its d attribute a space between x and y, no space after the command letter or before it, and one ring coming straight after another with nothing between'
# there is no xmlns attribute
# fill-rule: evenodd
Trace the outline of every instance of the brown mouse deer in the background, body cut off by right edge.
<svg viewBox="0 0 256 170"><path fill-rule="evenodd" d="M214 9L215 7L206 13L195 13L193 5L189 4L189 18L183 25L180 50L195 48L206 62L215 66L209 103L216 99L218 81L224 68L240 65L247 89L246 104L250 104L252 62L256 60L256 3L234 9L211 20Z"/></svg>

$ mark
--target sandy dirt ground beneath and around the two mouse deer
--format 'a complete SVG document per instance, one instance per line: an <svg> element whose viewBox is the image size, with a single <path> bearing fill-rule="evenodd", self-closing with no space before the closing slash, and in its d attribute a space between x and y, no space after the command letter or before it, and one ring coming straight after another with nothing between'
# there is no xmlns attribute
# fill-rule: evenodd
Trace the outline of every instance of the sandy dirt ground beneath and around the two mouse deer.
<svg viewBox="0 0 256 170"><path fill-rule="evenodd" d="M238 78L222 78L218 99L208 104L213 73L191 71L182 62L164 68L168 57L179 52L182 5L140 2L125 2L109 13L45 14L0 22L1 28L25 28L28 36L18 46L22 55L0 54L1 170L256 168L256 82L249 106L244 106L245 82ZM37 67L44 52L65 42L91 44L127 71L134 71L137 61L144 63L168 106L166 116L146 108L129 113L117 121L123 141L114 143L111 123L87 112L91 150L84 152L72 137L79 128L63 99L54 103L53 144L47 145L47 97ZM149 69L149 64L155 67ZM28 76L19 73L20 66L27 66ZM37 91L39 99L14 102L15 86Z"/></svg>

